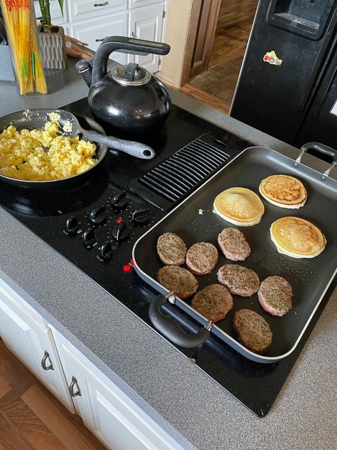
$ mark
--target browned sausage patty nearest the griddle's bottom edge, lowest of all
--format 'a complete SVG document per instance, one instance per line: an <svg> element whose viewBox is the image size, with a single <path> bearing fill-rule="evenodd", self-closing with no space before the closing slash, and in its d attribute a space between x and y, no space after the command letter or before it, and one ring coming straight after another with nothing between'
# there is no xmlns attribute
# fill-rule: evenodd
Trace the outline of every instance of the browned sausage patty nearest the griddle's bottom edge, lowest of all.
<svg viewBox="0 0 337 450"><path fill-rule="evenodd" d="M272 331L262 315L255 311L236 311L233 327L240 343L258 355L263 355L272 345Z"/></svg>

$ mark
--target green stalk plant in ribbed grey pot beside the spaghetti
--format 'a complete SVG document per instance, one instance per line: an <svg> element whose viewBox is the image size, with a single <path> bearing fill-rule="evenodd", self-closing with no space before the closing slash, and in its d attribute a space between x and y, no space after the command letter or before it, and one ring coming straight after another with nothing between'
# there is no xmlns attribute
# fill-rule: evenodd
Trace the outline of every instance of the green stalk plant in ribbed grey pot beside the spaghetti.
<svg viewBox="0 0 337 450"><path fill-rule="evenodd" d="M51 23L49 0L38 0L41 9L41 23L38 33L41 43L41 54L43 67L46 69L65 69L67 66L67 55L65 50L65 34L62 26ZM63 0L58 0L61 11L63 11Z"/></svg>

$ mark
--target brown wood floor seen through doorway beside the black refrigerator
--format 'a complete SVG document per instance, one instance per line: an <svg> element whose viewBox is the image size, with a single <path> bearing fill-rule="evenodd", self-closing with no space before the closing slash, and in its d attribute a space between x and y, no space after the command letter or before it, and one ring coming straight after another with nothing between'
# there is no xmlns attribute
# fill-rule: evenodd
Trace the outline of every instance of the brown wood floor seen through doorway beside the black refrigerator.
<svg viewBox="0 0 337 450"><path fill-rule="evenodd" d="M209 68L184 85L184 93L228 114L257 3L221 1Z"/></svg>

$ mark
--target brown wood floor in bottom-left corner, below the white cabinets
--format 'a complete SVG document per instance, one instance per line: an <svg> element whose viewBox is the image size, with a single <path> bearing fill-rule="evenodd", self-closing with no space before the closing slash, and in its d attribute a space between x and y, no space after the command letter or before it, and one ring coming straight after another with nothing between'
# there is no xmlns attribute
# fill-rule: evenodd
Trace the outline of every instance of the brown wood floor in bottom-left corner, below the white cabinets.
<svg viewBox="0 0 337 450"><path fill-rule="evenodd" d="M0 450L107 450L0 340Z"/></svg>

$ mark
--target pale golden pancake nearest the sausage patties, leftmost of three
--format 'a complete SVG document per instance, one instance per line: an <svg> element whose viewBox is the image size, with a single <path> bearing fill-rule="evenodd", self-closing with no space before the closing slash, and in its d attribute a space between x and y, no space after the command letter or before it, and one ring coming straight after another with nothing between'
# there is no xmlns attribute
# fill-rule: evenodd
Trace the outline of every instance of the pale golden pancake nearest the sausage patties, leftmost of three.
<svg viewBox="0 0 337 450"><path fill-rule="evenodd" d="M220 192L213 207L216 214L238 226L258 224L264 213L260 197L245 187L230 187Z"/></svg>

